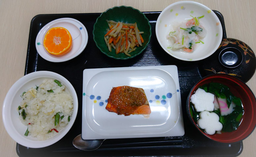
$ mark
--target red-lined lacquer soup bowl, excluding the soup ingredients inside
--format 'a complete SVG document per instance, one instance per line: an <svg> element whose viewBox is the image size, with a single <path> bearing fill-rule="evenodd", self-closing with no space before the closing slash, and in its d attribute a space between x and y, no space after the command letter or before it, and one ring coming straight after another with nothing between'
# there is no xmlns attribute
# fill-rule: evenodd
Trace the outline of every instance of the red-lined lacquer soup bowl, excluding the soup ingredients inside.
<svg viewBox="0 0 256 157"><path fill-rule="evenodd" d="M196 121L194 121L193 117L191 116L190 112L190 105L193 105L190 102L190 97L192 94L195 93L196 89L198 89L199 86L202 86L204 84L208 84L211 82L217 82L224 84L229 87L230 91L234 94L234 96L239 97L243 103L244 106L244 115L242 122L240 126L237 128L237 130L234 130L233 132L221 132L221 134L213 134L209 135L205 133L203 130L201 130L197 124ZM191 89L188 99L187 99L187 113L190 121L195 125L197 130L204 134L209 139L212 139L217 142L221 143L234 143L241 140L244 140L247 138L254 130L256 125L256 99L254 94L252 93L252 90L241 80L238 78L227 75L227 74L213 74L206 76L202 78L199 82L196 83L196 85Z"/></svg>

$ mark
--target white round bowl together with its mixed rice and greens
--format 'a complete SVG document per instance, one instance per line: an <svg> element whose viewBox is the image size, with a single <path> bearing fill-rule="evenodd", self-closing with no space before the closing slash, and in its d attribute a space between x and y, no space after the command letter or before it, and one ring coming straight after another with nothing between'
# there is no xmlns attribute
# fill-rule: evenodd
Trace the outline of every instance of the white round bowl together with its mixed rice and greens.
<svg viewBox="0 0 256 157"><path fill-rule="evenodd" d="M46 83L43 85L44 87L42 86L44 89L38 88L38 91L36 93L37 98L40 99L40 101L41 99L45 99L46 97L44 97L40 93L44 93L49 88L48 90L52 89L55 94L59 93L61 96L48 96L48 100L51 102L53 102L52 100L54 100L55 102L61 102L61 104L54 103L54 105L52 105L50 103L47 103L47 101L44 101L45 107L41 106L39 111L42 111L42 116L45 115L44 113L47 113L49 114L49 117L39 116L38 118L35 118L31 115L31 113L37 111L35 110L35 108L37 107L37 105L35 104L38 104L38 102L40 103L40 101L35 99L34 101L30 102L29 98L23 100L20 95L22 95L24 91L28 91L28 89L35 89L36 85L39 86L45 79L58 80L63 86L60 87L55 82L53 82L52 84ZM65 88L65 92L61 92L63 88ZM70 94L70 96L68 96L68 93ZM47 94L49 93L47 92ZM32 96L31 94L26 95L27 97ZM70 105L71 101L73 102L73 108L72 105ZM24 103L27 103L28 105L26 108L25 106L23 106L26 110L25 112L27 113L25 120L23 120L21 115L19 116L18 106L20 105L20 103L23 105L25 105ZM54 111L53 108L55 108ZM75 122L77 110L78 99L76 91L72 84L66 78L50 71L37 71L21 77L17 82L12 85L4 99L2 116L5 129L12 137L12 139L14 139L17 143L23 146L27 146L30 148L41 148L56 143L68 133L68 131ZM57 112L61 112L60 117L64 115L62 119L60 118L57 128L54 128L58 131L58 133L52 130L52 132L46 133L46 135L44 135L42 132L48 132L49 130L53 129L52 123L54 126L54 115ZM67 121L68 115L71 115L69 122ZM32 117L35 119L32 120ZM47 120L48 118L52 120L49 121ZM31 123L32 121L35 127L33 127L32 125L28 125L28 123ZM25 136L24 134L28 128L28 136Z"/></svg>

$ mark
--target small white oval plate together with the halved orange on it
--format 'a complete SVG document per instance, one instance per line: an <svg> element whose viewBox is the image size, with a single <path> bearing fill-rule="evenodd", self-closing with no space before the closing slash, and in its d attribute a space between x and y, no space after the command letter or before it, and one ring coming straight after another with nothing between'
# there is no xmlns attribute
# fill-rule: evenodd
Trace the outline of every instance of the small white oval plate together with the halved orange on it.
<svg viewBox="0 0 256 157"><path fill-rule="evenodd" d="M62 41L64 35L61 33L54 35L51 32L51 37L47 38L52 38L52 44L54 44L54 46L58 45L57 47L64 47L63 50L59 48L55 51L53 50L53 47L49 48L51 47L49 44L50 42L49 40L48 43L46 42L45 36L51 31L52 28L53 33L56 32L57 29L64 32L68 30L65 35L68 35L68 38L71 36L71 38L65 42ZM38 54L47 61L64 62L71 60L81 54L84 51L87 42L88 33L85 26L80 21L74 18L59 18L49 22L38 32L36 36L36 50ZM66 51L65 48L69 49L69 47L71 47L71 49Z"/></svg>

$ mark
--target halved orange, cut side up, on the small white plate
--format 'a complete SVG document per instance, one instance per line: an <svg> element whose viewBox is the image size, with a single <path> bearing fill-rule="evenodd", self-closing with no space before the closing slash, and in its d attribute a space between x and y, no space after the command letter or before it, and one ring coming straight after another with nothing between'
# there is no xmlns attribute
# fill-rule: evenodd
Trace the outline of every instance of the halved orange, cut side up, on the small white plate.
<svg viewBox="0 0 256 157"><path fill-rule="evenodd" d="M50 54L66 54L72 47L72 37L66 28L51 28L45 34L44 47Z"/></svg>

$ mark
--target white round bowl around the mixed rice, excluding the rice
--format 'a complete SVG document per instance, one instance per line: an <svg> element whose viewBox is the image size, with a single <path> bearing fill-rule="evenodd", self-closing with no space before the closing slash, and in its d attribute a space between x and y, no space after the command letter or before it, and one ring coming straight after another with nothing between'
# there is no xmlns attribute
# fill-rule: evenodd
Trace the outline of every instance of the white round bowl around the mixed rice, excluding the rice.
<svg viewBox="0 0 256 157"><path fill-rule="evenodd" d="M62 82L66 86L66 90L68 89L73 97L74 107L73 114L68 125L51 139L40 141L31 136L24 136L28 127L21 123L17 107L22 100L20 97L22 92L30 89L31 87L36 87L36 85L40 85L45 78L53 78ZM50 71L36 71L21 77L12 85L4 99L2 116L6 131L17 143L30 148L42 148L56 143L68 133L76 120L77 110L78 99L76 91L65 77Z"/></svg>

